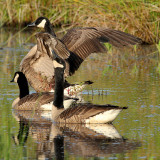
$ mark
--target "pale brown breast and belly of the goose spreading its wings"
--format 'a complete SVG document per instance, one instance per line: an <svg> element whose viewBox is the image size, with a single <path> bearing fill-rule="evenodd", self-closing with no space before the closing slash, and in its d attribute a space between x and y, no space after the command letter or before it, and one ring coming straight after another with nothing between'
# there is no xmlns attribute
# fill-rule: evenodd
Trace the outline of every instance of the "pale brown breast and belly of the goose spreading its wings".
<svg viewBox="0 0 160 160"><path fill-rule="evenodd" d="M20 63L20 70L29 84L37 92L47 92L54 88L54 68L46 51L40 52L35 45Z"/></svg>

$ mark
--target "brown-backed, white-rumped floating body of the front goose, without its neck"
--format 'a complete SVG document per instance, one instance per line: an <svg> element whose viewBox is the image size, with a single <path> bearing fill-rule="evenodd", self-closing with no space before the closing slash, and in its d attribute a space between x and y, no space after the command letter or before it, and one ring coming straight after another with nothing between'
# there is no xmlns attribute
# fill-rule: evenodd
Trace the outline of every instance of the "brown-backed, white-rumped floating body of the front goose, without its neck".
<svg viewBox="0 0 160 160"><path fill-rule="evenodd" d="M54 115L56 117L54 120L59 123L111 123L123 109L127 109L127 107L110 104L77 104L75 107L68 108L63 112L60 111L58 117ZM54 113L57 112L53 111Z"/></svg>

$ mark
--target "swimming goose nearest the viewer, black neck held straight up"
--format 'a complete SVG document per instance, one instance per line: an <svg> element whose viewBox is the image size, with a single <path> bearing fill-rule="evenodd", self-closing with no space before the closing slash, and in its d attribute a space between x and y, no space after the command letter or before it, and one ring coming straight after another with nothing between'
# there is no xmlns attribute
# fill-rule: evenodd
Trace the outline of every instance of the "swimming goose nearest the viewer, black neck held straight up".
<svg viewBox="0 0 160 160"><path fill-rule="evenodd" d="M55 56L56 54L52 52ZM54 57L53 56L53 57ZM64 70L65 62L55 56L53 60L55 72L55 89L52 107L52 120L58 123L111 123L117 115L127 107L114 105L76 104L74 107L64 109Z"/></svg>

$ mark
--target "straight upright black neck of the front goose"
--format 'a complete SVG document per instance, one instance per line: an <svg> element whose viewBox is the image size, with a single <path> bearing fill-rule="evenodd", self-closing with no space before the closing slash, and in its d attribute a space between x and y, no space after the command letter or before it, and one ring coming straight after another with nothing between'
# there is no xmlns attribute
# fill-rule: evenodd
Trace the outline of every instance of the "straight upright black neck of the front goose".
<svg viewBox="0 0 160 160"><path fill-rule="evenodd" d="M55 68L55 88L53 105L57 108L64 108L64 71L62 68Z"/></svg>

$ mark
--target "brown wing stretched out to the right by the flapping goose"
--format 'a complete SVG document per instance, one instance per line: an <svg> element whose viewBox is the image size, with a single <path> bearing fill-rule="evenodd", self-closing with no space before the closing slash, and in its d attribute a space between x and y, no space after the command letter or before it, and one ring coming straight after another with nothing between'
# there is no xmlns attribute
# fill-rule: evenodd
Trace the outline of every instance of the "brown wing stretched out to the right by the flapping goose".
<svg viewBox="0 0 160 160"><path fill-rule="evenodd" d="M107 28L73 28L70 29L61 41L71 51L68 58L70 75L81 65L91 53L106 52L103 43L110 43L116 47L141 44L142 40L122 31Z"/></svg>

